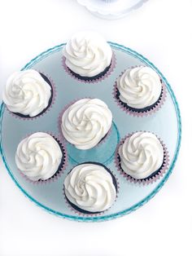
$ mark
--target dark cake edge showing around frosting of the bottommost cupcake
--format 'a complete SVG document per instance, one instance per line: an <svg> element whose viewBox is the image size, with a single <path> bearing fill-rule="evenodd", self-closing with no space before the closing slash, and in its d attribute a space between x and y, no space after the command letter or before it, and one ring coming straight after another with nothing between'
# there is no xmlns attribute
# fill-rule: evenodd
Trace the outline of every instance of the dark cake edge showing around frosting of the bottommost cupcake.
<svg viewBox="0 0 192 256"><path fill-rule="evenodd" d="M107 172L108 172L109 174L111 174L112 182L113 182L113 184L114 184L114 186L115 186L115 188L116 188L116 193L118 192L118 183L117 183L117 180L116 180L115 176L111 173L111 170L109 170L106 166L104 166L104 165L101 164L101 163L95 162L95 161L86 161L86 162L84 162L84 163L81 163L81 165L82 165L82 164L95 164L95 165L98 165L98 166L103 166L103 168L104 168L105 170L107 170ZM72 170L70 170L68 174L70 174L71 171L72 171ZM89 212L89 211L87 211L87 210L82 210L81 208L79 208L78 206L72 204L72 202L68 200L68 197L66 196L65 191L64 191L64 186L63 186L63 194L64 194L64 196L65 196L66 201L68 202L68 205L70 205L70 206L72 207L72 210L76 210L77 213L81 213L81 214L102 214L102 213L104 213L105 211L107 211L107 210L104 210L104 211L98 211L98 212Z"/></svg>

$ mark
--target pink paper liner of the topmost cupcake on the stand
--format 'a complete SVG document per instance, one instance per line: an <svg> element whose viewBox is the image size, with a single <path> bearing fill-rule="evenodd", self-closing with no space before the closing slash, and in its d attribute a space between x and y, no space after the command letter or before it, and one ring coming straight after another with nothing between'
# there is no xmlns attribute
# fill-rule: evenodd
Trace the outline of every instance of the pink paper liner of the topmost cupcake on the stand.
<svg viewBox="0 0 192 256"><path fill-rule="evenodd" d="M105 78L109 77L111 75L111 73L113 72L114 68L116 67L116 55L113 52L112 54L112 58L111 58L111 65L109 67L109 69L107 70L107 72L105 74L103 74L103 76L95 78L93 80L84 80L81 78L76 77L75 75L72 74L72 72L70 71L70 69L68 68L68 66L65 64L65 60L66 58L63 56L62 57L62 66L65 70L66 73L68 73L68 75L74 79L76 79L76 81L78 82L83 82L83 83L96 83L96 82L101 82L103 81Z"/></svg>

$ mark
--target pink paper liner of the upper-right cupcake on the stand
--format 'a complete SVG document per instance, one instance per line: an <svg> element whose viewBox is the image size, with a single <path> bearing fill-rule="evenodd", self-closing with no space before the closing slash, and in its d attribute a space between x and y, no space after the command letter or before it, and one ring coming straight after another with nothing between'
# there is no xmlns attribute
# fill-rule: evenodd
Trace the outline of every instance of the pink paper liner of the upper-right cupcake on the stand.
<svg viewBox="0 0 192 256"><path fill-rule="evenodd" d="M139 66L132 66L130 68L137 68ZM126 69L125 69L126 70ZM123 75L123 73L125 72L125 70L120 73L120 76L121 77ZM119 79L119 77L117 79ZM153 107L151 107L151 109L148 109L148 110L143 110L142 112L137 112L137 110L133 110L131 108L129 108L129 106L125 107L124 106L124 103L118 98L117 99L117 93L118 93L118 89L117 89L117 79L116 79L116 82L115 82L115 85L113 86L113 91L112 91L112 95L113 95L113 98L115 99L116 101L116 104L127 114L129 115L132 115L133 117L146 117L146 116L149 116L151 115L152 113L156 113L161 107L162 105L164 104L164 101L167 97L167 90L166 90L166 86L164 84L164 82L161 81L161 85L162 85L162 91L161 91L161 95L160 95L160 98L158 99L158 101L155 103L155 105Z"/></svg>

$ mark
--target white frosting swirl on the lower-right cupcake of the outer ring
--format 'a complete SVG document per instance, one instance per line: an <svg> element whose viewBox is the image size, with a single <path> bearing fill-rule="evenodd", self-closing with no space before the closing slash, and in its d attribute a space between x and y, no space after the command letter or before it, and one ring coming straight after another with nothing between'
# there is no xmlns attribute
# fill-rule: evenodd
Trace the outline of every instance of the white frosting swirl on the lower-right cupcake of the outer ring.
<svg viewBox="0 0 192 256"><path fill-rule="evenodd" d="M150 132L136 132L119 148L120 166L134 179L145 179L162 166L164 148Z"/></svg>

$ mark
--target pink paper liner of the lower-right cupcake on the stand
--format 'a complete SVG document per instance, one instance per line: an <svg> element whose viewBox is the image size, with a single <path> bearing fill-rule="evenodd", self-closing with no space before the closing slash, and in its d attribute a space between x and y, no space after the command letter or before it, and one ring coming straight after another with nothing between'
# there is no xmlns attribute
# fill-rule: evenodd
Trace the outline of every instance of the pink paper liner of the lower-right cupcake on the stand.
<svg viewBox="0 0 192 256"><path fill-rule="evenodd" d="M144 130L144 132L146 132L146 130ZM133 133L131 133L129 135L126 135L124 137L124 139L121 139L120 143L117 145L117 147L116 147L116 155L115 155L115 165L116 165L116 168L120 172L120 174L123 175L124 178L129 180L129 182L131 182L131 183L135 183L135 184L138 183L138 184L142 184L142 185L148 185L148 184L155 183L158 179L163 177L163 175L165 174L166 170L168 170L168 165L169 165L168 148L166 148L166 145L164 144L164 142L161 139L159 139L158 137L157 138L159 139L160 143L162 144L162 146L164 148L164 162L163 162L163 165L160 167L160 170L158 171L157 174L154 174L154 176L152 176L150 178L134 179L129 174L126 174L124 172L124 170L120 166L120 156L119 156L118 150L119 150L120 146L124 143L124 140L129 138L134 133L135 132L133 132Z"/></svg>

